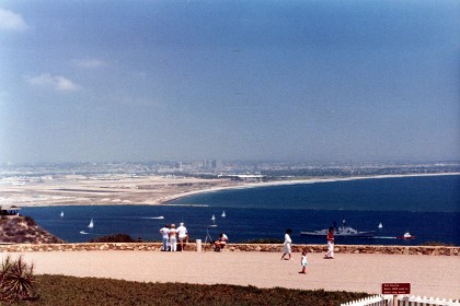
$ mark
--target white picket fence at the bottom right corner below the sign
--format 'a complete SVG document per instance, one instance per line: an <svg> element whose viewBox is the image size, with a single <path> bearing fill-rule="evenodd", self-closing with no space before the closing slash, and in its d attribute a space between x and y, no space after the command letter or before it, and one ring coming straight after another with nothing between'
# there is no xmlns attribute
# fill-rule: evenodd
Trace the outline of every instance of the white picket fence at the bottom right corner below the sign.
<svg viewBox="0 0 460 306"><path fill-rule="evenodd" d="M341 306L392 306L393 295L375 295L359 301L341 304ZM421 296L398 296L399 306L460 306L460 302Z"/></svg>

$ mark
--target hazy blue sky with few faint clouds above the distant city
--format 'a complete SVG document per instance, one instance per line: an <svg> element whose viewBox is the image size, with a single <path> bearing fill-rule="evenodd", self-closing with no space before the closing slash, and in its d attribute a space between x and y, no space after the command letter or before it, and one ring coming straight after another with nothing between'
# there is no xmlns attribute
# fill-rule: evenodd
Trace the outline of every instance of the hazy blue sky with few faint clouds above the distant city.
<svg viewBox="0 0 460 306"><path fill-rule="evenodd" d="M460 160L458 1L0 1L0 162Z"/></svg>

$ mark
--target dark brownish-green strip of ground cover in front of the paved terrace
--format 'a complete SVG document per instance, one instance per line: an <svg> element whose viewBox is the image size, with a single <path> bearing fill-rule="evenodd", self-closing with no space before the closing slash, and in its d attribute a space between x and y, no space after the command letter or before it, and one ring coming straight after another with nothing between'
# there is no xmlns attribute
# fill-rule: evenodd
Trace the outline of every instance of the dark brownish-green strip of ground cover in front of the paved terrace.
<svg viewBox="0 0 460 306"><path fill-rule="evenodd" d="M33 305L340 305L366 293L257 289L237 285L141 283L110 279L36 275Z"/></svg>

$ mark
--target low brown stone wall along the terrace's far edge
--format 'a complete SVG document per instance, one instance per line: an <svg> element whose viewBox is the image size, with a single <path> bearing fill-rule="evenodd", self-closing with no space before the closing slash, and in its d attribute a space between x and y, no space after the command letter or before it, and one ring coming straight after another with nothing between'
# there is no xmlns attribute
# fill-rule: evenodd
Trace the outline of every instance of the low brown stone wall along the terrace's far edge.
<svg viewBox="0 0 460 306"><path fill-rule="evenodd" d="M203 246L210 249L210 246ZM307 248L308 252L325 252L325 245L292 245L294 252ZM180 249L180 246L179 246ZM28 251L91 251L91 250L142 250L160 251L161 243L99 243L99 244L14 244L0 245L0 252ZM186 251L195 251L196 245L189 244ZM272 251L281 252L281 244L228 244L225 251ZM344 254L400 254L400 255L434 255L460 256L460 247L444 246L369 246L369 245L336 245L335 252Z"/></svg>

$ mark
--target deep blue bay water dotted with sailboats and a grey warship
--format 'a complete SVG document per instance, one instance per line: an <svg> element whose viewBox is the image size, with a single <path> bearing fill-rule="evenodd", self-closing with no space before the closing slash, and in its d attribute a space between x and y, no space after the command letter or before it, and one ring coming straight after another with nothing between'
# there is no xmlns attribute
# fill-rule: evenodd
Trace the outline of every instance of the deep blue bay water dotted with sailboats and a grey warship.
<svg viewBox="0 0 460 306"><path fill-rule="evenodd" d="M24 208L22 213L71 243L126 233L160 240L165 223L185 222L192 239L231 242L283 239L292 228L298 244L322 244L324 237L301 231L326 228L333 222L358 231L376 231L375 238L336 238L337 244L419 245L442 242L460 246L460 176L359 179L289 186L222 190L183 198L174 205ZM226 216L222 217L222 212ZM60 216L61 212L64 216ZM215 215L216 227L211 227ZM94 220L94 227L88 223ZM378 224L382 228L378 228ZM84 232L88 234L81 234ZM396 239L410 232L413 240Z"/></svg>

